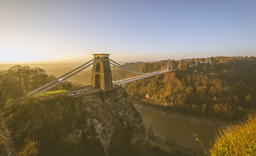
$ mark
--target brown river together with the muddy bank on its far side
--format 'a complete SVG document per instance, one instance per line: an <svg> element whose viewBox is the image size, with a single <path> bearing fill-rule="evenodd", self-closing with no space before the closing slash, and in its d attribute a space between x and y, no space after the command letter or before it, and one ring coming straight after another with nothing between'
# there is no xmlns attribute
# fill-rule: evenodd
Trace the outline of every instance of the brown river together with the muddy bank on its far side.
<svg viewBox="0 0 256 156"><path fill-rule="evenodd" d="M209 148L210 141L213 141L213 137L216 135L215 131L226 123L223 120L194 117L186 114L167 114L163 110L152 111L152 107L145 107L144 104L137 101L133 101L133 103L142 115L146 128L148 129L151 126L155 136L199 151L203 151L203 148L196 141L192 132L197 134L205 148Z"/></svg>

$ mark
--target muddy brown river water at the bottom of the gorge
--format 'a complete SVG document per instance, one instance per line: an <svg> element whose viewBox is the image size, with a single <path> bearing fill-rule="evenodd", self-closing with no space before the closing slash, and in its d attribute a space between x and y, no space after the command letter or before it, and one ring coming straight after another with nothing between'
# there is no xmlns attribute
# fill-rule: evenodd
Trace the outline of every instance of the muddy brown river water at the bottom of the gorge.
<svg viewBox="0 0 256 156"><path fill-rule="evenodd" d="M207 148L210 147L210 141L213 141L215 130L217 131L220 127L191 123L188 120L163 116L151 110L145 110L139 107L135 108L142 115L146 128L148 129L151 126L156 136L161 135L164 140L176 142L178 145L190 149L203 151L202 146L196 141L192 132L197 134L204 148Z"/></svg>

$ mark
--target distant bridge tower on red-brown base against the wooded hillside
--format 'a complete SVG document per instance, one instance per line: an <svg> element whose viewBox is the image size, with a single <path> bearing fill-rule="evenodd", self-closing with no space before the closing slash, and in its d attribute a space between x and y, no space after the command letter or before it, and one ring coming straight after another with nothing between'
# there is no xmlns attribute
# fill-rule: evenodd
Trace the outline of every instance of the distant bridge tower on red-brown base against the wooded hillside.
<svg viewBox="0 0 256 156"><path fill-rule="evenodd" d="M177 69L177 63L172 60L168 59L169 65L167 66L167 70L171 70L170 72L164 73L164 83L168 83L176 78L176 69Z"/></svg>

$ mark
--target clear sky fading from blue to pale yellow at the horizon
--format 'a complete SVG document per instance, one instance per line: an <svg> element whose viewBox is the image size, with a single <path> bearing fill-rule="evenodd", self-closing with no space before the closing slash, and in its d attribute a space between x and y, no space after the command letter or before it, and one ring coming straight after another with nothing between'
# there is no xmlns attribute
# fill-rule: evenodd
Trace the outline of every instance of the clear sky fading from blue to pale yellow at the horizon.
<svg viewBox="0 0 256 156"><path fill-rule="evenodd" d="M0 64L256 56L256 0L0 0Z"/></svg>

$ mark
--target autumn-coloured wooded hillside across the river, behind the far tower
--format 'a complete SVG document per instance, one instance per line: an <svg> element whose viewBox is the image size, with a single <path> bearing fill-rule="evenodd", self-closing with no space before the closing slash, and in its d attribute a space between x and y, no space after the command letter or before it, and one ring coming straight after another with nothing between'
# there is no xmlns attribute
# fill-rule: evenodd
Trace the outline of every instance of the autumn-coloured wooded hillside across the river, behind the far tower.
<svg viewBox="0 0 256 156"><path fill-rule="evenodd" d="M231 119L256 112L255 57L216 56L176 62L177 78L173 81L164 83L164 75L134 81L125 85L128 95L135 100L148 99L154 107L198 116ZM126 66L152 72L163 64Z"/></svg>

